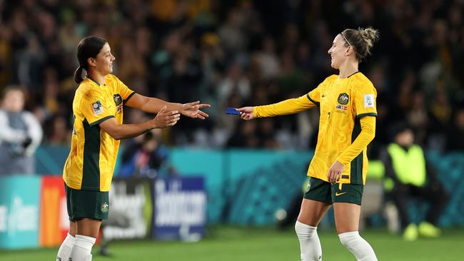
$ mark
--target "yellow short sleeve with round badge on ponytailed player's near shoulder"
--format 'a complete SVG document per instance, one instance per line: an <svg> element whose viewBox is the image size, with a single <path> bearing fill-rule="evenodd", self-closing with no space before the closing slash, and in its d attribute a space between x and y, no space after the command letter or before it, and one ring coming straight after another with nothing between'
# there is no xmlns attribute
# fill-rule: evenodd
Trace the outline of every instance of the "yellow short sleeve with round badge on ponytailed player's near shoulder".
<svg viewBox="0 0 464 261"><path fill-rule="evenodd" d="M81 111L90 126L95 126L109 118L114 118L114 115L109 110L109 106L111 105L106 103L101 92L96 90L87 91L81 98Z"/></svg>

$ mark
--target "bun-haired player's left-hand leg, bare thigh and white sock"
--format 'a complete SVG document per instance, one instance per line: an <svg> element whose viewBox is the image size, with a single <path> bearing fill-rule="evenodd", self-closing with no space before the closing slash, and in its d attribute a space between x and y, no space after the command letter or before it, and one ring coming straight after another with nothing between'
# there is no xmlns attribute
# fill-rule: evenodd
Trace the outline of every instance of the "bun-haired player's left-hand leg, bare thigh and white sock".
<svg viewBox="0 0 464 261"><path fill-rule="evenodd" d="M322 260L322 247L319 241L317 226L326 215L328 203L303 199L300 215L295 224L296 235L300 241L301 260Z"/></svg>

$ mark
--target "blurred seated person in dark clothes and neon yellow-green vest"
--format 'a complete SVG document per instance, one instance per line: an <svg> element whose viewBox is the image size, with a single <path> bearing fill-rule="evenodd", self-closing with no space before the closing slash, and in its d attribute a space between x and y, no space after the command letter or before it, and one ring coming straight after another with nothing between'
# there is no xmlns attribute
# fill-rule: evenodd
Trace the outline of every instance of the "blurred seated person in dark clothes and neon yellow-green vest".
<svg viewBox="0 0 464 261"><path fill-rule="evenodd" d="M405 123L393 127L393 143L383 153L385 164L385 190L398 208L403 238L416 240L423 237L438 237L438 218L448 202L448 194L437 178L433 165L425 158L420 145L414 144L413 130ZM430 203L425 221L415 225L408 217L411 198Z"/></svg>

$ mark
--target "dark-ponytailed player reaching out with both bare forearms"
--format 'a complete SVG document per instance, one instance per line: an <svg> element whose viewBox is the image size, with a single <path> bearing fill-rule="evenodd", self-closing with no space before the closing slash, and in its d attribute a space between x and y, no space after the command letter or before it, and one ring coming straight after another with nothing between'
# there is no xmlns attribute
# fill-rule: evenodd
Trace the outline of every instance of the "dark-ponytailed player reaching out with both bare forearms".
<svg viewBox="0 0 464 261"><path fill-rule="evenodd" d="M111 48L101 37L89 36L77 47L79 83L73 101L74 129L63 170L69 214L69 234L58 251L58 261L89 261L101 220L108 218L108 192L113 177L119 140L141 135L153 128L177 123L180 115L205 119L200 111L209 104L168 103L131 91L112 75ZM86 70L86 78L82 71ZM123 106L158 113L150 121L123 124Z"/></svg>

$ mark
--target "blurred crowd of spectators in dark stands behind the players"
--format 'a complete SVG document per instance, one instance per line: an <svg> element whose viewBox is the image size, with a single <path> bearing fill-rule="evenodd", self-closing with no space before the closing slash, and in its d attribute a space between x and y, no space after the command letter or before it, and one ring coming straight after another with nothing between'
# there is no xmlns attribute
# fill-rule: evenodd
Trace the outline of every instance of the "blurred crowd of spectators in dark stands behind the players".
<svg viewBox="0 0 464 261"><path fill-rule="evenodd" d="M463 15L463 0L0 0L0 88L24 89L42 143L69 145L76 46L104 36L114 73L133 91L211 103L207 121L182 118L156 140L313 148L317 110L246 122L225 110L308 93L337 73L327 54L336 34L373 26L380 41L360 64L378 91L373 153L390 142L396 121L414 128L416 143L447 153L464 150ZM125 117L152 116L128 109Z"/></svg>

